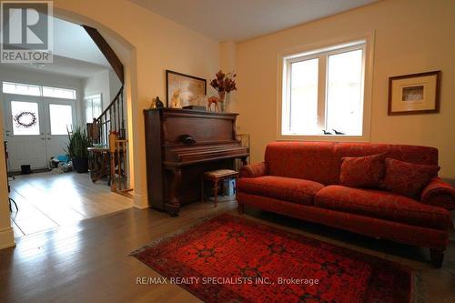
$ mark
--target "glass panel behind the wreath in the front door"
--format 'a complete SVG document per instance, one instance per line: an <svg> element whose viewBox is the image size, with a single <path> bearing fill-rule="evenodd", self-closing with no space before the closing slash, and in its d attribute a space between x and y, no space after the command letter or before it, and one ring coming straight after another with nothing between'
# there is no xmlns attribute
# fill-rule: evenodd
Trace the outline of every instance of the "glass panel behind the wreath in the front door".
<svg viewBox="0 0 455 303"><path fill-rule="evenodd" d="M13 116L13 134L15 136L39 135L37 103L11 101L11 116Z"/></svg>

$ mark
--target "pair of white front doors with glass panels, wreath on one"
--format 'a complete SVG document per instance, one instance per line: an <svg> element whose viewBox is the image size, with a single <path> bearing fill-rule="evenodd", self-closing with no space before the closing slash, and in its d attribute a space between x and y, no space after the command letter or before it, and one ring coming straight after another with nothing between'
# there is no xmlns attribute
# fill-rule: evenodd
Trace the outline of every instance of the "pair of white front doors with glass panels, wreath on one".
<svg viewBox="0 0 455 303"><path fill-rule="evenodd" d="M67 129L76 122L74 100L5 95L5 101L9 171L45 168L51 157L66 154Z"/></svg>

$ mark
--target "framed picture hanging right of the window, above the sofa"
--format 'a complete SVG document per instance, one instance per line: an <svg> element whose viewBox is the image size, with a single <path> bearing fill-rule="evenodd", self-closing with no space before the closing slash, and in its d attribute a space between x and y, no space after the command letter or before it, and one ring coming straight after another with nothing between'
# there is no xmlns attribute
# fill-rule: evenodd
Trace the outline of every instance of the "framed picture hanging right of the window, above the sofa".
<svg viewBox="0 0 455 303"><path fill-rule="evenodd" d="M440 71L389 77L388 115L440 112Z"/></svg>

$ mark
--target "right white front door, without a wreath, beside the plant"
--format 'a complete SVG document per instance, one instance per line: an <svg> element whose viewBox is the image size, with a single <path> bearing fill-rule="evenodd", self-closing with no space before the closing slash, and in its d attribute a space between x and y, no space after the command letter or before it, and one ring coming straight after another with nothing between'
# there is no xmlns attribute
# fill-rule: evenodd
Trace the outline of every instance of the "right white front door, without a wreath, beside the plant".
<svg viewBox="0 0 455 303"><path fill-rule="evenodd" d="M76 104L74 100L45 100L45 141L47 158L66 155L68 132L76 122ZM48 116L48 118L47 118Z"/></svg>

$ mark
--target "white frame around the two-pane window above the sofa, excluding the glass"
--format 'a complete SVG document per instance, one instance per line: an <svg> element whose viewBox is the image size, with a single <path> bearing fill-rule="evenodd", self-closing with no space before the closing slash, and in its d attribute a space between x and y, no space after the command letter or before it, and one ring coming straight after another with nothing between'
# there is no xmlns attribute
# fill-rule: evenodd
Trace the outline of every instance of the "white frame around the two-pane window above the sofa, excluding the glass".
<svg viewBox="0 0 455 303"><path fill-rule="evenodd" d="M360 46L361 45L361 46ZM327 92L327 65L328 56L339 53L349 52L362 48L363 59L363 123L361 136L349 135L296 135L283 131L283 122L288 124L289 117L289 98L290 81L288 81L290 66L294 62L319 58L319 83L325 86L318 86L318 116L323 117L319 120L319 127L325 126L326 118L326 92ZM334 39L314 45L298 46L278 54L278 125L277 139L282 141L357 141L369 142L370 140L370 117L371 117L371 88L373 75L373 50L374 32L364 35L353 35L345 38ZM324 65L326 68L320 68ZM322 71L322 72L321 72ZM287 85L287 87L284 87ZM323 127L322 127L323 128Z"/></svg>

